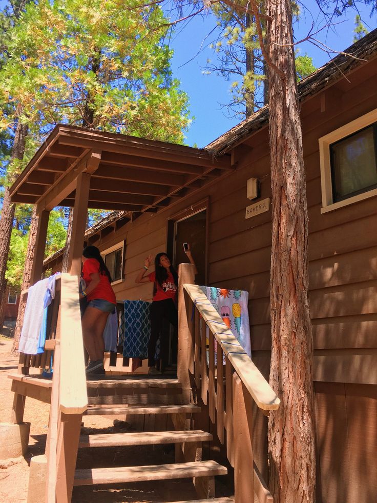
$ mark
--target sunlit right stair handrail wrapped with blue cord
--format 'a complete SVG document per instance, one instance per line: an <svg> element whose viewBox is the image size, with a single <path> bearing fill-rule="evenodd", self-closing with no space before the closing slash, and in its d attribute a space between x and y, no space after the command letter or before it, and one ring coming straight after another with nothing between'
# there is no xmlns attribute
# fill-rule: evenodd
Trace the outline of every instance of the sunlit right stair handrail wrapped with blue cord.
<svg viewBox="0 0 377 503"><path fill-rule="evenodd" d="M198 285L189 284L184 284L183 288L190 295L195 308L215 336L217 343L237 371L242 383L252 395L257 406L265 411L278 409L280 399L275 391L257 369L253 360L246 354L232 331L224 327L222 318L203 290Z"/></svg>

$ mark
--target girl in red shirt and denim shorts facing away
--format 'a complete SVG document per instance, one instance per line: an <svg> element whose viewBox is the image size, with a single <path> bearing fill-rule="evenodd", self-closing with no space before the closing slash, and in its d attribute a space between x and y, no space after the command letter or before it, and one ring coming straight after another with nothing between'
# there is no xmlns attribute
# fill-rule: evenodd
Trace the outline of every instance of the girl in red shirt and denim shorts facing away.
<svg viewBox="0 0 377 503"><path fill-rule="evenodd" d="M116 307L112 278L97 247L87 246L82 252L82 277L86 288L80 293L88 306L81 319L84 346L89 354L87 375L104 375L103 330L111 312Z"/></svg>

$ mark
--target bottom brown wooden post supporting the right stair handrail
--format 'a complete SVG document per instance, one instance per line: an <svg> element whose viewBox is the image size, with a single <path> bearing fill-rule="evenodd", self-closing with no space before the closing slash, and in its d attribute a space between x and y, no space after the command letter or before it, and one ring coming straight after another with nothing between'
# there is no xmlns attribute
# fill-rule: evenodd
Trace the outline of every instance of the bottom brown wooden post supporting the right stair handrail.
<svg viewBox="0 0 377 503"><path fill-rule="evenodd" d="M233 375L235 503L254 501L252 397L241 379Z"/></svg>

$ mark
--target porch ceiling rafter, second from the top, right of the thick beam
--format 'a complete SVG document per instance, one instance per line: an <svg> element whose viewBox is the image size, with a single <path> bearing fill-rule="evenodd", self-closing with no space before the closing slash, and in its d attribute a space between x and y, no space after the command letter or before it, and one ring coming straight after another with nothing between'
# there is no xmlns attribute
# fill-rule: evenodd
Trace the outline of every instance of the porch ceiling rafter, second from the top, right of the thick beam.
<svg viewBox="0 0 377 503"><path fill-rule="evenodd" d="M176 187L182 186L186 179L186 175L182 174L159 173L154 170L138 170L125 166L110 166L102 162L95 173L95 178L97 177L128 180L130 182L145 182L157 185L174 185Z"/></svg>

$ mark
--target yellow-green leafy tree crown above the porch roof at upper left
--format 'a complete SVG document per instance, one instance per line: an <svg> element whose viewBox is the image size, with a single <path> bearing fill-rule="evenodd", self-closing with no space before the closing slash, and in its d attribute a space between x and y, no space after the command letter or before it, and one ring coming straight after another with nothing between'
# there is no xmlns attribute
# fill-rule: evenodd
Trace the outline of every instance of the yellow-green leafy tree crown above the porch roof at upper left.
<svg viewBox="0 0 377 503"><path fill-rule="evenodd" d="M183 143L187 96L172 78L163 13L139 0L40 0L12 29L0 100L48 132L58 122ZM0 129L12 116L0 117Z"/></svg>

